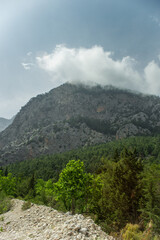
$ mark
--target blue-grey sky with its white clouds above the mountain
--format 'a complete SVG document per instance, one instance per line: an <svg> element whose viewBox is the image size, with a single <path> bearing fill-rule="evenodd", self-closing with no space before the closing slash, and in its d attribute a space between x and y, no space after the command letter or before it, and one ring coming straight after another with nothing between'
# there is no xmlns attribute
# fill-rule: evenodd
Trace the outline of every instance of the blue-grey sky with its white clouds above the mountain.
<svg viewBox="0 0 160 240"><path fill-rule="evenodd" d="M159 0L1 0L0 117L65 82L160 95Z"/></svg>

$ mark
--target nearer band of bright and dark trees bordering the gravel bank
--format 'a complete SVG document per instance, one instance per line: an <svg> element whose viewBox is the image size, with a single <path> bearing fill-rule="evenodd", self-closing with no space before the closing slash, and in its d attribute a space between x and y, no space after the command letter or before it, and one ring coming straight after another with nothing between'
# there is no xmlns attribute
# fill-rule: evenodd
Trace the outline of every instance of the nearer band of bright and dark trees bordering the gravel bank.
<svg viewBox="0 0 160 240"><path fill-rule="evenodd" d="M108 233L129 236L124 239L159 236L159 182L160 165L146 163L136 149L126 147L115 149L112 157L101 157L92 173L77 159L70 160L57 179L54 175L44 180L35 173L20 177L6 169L0 171L1 193L90 215Z"/></svg>

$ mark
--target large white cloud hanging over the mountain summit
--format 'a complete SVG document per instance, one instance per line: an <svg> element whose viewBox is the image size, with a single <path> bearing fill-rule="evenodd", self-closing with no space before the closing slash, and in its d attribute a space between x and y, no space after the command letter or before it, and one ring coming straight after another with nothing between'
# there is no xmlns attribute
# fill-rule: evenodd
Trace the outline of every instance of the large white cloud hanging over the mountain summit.
<svg viewBox="0 0 160 240"><path fill-rule="evenodd" d="M58 45L51 54L37 57L40 68L51 74L54 82L113 85L150 94L160 94L160 68L149 63L140 73L136 61L127 56L114 60L111 52L100 46L67 48Z"/></svg>

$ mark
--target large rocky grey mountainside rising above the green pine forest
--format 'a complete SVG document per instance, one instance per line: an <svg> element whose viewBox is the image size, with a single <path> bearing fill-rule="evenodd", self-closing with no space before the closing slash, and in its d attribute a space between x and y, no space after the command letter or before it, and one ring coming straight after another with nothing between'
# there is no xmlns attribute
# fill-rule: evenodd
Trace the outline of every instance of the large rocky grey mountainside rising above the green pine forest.
<svg viewBox="0 0 160 240"><path fill-rule="evenodd" d="M0 133L0 163L157 133L159 97L64 84L32 98Z"/></svg>

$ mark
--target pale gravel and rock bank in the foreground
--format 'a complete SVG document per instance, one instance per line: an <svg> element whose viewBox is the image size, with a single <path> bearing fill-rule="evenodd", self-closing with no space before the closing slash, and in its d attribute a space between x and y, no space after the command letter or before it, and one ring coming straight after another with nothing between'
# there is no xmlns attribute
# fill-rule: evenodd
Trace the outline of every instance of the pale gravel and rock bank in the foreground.
<svg viewBox="0 0 160 240"><path fill-rule="evenodd" d="M12 209L0 215L0 240L113 240L92 219L60 213L32 204L22 210L22 200L12 200Z"/></svg>

